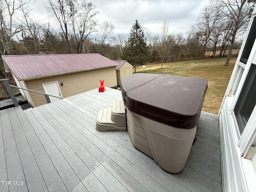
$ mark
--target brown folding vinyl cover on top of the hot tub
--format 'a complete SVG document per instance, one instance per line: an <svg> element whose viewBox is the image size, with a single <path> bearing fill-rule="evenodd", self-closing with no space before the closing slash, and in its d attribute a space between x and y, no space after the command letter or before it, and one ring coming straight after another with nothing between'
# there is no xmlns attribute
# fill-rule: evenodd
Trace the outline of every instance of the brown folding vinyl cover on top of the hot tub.
<svg viewBox="0 0 256 192"><path fill-rule="evenodd" d="M207 80L136 73L122 78L121 89L131 112L176 128L191 129L200 117Z"/></svg>

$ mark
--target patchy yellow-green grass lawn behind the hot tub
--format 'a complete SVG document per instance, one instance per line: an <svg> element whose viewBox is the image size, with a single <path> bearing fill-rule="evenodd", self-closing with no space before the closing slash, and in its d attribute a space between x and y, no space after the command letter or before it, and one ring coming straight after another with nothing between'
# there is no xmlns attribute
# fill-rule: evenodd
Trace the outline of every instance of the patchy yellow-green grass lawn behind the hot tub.
<svg viewBox="0 0 256 192"><path fill-rule="evenodd" d="M226 58L207 58L160 64L148 64L136 68L138 73L159 73L208 79L208 89L202 111L218 114L230 76L236 63L236 57L230 59L224 67Z"/></svg>

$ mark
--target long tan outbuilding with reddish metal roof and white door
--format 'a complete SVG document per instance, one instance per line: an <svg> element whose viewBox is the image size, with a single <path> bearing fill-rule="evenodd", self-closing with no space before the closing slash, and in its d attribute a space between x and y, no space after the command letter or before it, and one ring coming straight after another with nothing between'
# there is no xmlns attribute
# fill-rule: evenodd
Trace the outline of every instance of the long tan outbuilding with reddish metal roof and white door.
<svg viewBox="0 0 256 192"><path fill-rule="evenodd" d="M117 85L118 64L100 54L52 54L2 56L6 72L18 87L67 98L100 86ZM47 104L44 94L21 90L34 106ZM50 97L51 102L58 98Z"/></svg>

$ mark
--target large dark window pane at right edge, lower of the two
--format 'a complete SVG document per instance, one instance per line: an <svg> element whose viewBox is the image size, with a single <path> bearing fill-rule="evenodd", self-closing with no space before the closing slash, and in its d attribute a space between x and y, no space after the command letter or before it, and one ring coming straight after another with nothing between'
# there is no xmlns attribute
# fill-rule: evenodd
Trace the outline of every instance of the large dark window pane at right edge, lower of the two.
<svg viewBox="0 0 256 192"><path fill-rule="evenodd" d="M256 65L252 64L248 76L244 82L241 94L236 103L234 112L240 134L246 126L252 110L256 104Z"/></svg>

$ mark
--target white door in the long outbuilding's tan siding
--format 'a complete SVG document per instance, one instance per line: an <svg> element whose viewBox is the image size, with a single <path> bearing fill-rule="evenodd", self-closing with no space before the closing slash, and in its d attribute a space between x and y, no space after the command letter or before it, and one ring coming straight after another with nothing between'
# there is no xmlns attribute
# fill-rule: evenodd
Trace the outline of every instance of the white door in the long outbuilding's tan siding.
<svg viewBox="0 0 256 192"><path fill-rule="evenodd" d="M42 84L42 86L44 88L45 93L47 93L49 95L54 95L54 96L57 96L57 97L62 97L58 81L50 82L50 83L44 83L44 84ZM57 97L49 96L51 102L60 100Z"/></svg>

